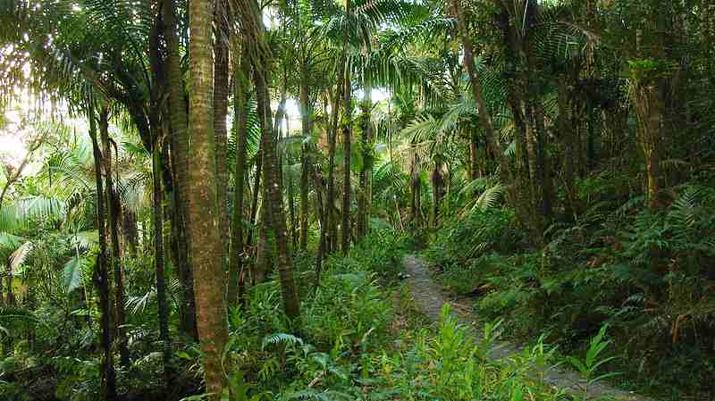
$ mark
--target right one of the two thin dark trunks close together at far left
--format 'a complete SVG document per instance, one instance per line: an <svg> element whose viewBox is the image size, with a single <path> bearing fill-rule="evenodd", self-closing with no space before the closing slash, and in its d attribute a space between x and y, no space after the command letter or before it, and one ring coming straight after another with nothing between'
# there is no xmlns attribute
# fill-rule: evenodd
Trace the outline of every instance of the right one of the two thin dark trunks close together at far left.
<svg viewBox="0 0 715 401"><path fill-rule="evenodd" d="M109 143L109 110L103 106L99 113L99 136L104 148L103 164L105 168L105 191L109 207L109 234L112 246L111 264L114 271L114 310L116 319L114 327L118 338L120 363L123 367L130 365L127 335L123 328L125 322L124 311L124 270L122 269L122 255L119 250L119 197L114 190L112 180L112 147Z"/></svg>

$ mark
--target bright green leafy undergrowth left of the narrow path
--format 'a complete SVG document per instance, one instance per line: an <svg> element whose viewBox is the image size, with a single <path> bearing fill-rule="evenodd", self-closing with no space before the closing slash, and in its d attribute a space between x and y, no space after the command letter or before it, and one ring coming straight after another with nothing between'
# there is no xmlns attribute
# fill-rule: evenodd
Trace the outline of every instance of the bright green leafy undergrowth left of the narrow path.
<svg viewBox="0 0 715 401"><path fill-rule="evenodd" d="M374 232L330 258L321 287L303 299L299 335L282 319L277 285L252 288L246 308L231 313L231 392L252 401L561 399L526 379L526 360L486 362L489 342L474 342L449 309L426 325L400 285L406 245ZM200 377L198 354L182 356Z"/></svg>

